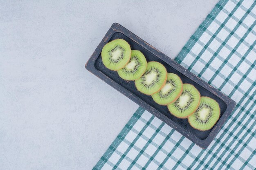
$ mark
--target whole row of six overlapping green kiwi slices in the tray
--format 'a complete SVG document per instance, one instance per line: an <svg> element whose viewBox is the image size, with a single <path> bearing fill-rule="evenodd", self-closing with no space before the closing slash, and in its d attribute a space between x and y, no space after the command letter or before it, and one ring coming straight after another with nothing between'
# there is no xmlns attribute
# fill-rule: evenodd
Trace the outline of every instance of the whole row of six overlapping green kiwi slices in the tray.
<svg viewBox="0 0 256 170"><path fill-rule="evenodd" d="M138 91L151 95L157 104L166 105L172 115L187 118L193 128L209 130L218 121L220 107L214 99L201 97L193 85L183 84L161 63L147 62L143 53L131 50L125 40L109 42L101 56L107 68L117 71L122 79L135 80Z"/></svg>

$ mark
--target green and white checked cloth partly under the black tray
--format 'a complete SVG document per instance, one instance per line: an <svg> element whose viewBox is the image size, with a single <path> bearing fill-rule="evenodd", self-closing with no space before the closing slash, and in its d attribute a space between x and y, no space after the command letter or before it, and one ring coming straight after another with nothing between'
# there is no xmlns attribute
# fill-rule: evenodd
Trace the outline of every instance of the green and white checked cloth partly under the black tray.
<svg viewBox="0 0 256 170"><path fill-rule="evenodd" d="M236 101L203 150L138 108L93 170L256 169L256 2L220 0L176 61Z"/></svg>

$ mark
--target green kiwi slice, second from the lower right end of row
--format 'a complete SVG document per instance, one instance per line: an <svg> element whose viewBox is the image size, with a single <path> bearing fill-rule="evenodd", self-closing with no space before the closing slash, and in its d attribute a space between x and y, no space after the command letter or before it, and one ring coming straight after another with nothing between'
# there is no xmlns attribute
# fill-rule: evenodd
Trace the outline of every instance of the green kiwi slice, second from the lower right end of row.
<svg viewBox="0 0 256 170"><path fill-rule="evenodd" d="M174 116L186 118L195 112L199 102L199 91L191 84L183 84L180 97L175 102L168 104L168 109Z"/></svg>

